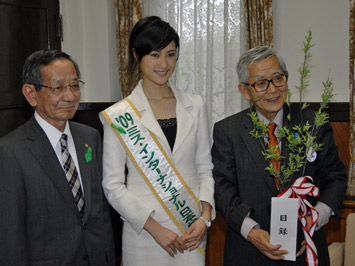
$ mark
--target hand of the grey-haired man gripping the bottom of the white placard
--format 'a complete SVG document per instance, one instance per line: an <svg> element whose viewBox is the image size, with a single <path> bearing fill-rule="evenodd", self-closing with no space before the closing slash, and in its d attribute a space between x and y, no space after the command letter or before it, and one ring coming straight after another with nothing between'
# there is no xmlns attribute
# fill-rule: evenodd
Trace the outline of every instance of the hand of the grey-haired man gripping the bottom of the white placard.
<svg viewBox="0 0 355 266"><path fill-rule="evenodd" d="M280 250L281 245L272 245L270 243L270 235L267 231L262 229L251 229L248 235L248 241L250 241L261 253L272 260L282 260L287 254L287 250Z"/></svg>

